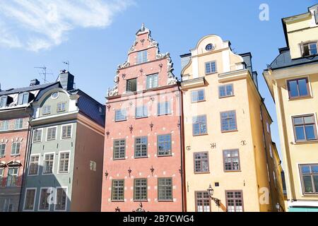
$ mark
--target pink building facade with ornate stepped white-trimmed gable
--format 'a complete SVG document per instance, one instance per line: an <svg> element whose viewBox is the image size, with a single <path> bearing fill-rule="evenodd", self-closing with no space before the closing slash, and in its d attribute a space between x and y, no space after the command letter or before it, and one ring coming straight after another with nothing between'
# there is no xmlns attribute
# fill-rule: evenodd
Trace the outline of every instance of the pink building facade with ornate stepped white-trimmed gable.
<svg viewBox="0 0 318 226"><path fill-rule="evenodd" d="M181 95L144 25L106 104L102 211L182 211Z"/></svg>

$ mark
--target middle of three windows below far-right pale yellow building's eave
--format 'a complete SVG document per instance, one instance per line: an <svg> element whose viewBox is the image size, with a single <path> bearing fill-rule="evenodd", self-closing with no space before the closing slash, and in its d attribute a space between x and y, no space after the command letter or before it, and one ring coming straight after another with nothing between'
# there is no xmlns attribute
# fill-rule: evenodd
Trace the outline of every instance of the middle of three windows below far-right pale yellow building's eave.
<svg viewBox="0 0 318 226"><path fill-rule="evenodd" d="M293 117L293 126L296 142L317 140L316 123L313 114Z"/></svg>

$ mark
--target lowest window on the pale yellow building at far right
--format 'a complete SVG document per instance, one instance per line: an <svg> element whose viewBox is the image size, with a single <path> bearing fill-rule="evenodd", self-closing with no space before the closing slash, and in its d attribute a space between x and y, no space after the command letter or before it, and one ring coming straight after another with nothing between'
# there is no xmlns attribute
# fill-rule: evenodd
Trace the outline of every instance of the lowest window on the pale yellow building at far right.
<svg viewBox="0 0 318 226"><path fill-rule="evenodd" d="M300 165L300 178L304 194L318 194L318 164Z"/></svg>

